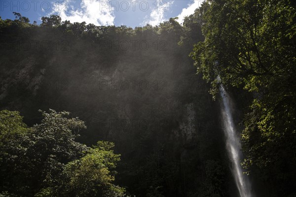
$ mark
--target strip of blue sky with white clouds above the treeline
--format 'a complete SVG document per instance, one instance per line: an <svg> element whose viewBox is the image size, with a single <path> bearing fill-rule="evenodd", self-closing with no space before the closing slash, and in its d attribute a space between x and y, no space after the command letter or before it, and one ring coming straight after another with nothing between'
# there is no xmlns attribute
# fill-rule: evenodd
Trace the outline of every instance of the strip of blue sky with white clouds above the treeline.
<svg viewBox="0 0 296 197"><path fill-rule="evenodd" d="M19 12L40 24L42 16L59 15L62 21L95 25L153 26L179 17L178 22L200 6L202 0L0 0L2 19L15 19Z"/></svg>

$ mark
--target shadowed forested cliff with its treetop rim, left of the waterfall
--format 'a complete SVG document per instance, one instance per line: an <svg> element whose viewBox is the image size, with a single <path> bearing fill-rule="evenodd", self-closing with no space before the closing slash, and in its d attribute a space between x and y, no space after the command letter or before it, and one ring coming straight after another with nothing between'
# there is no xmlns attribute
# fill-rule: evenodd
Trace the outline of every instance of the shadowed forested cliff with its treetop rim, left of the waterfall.
<svg viewBox="0 0 296 197"><path fill-rule="evenodd" d="M188 57L192 43L203 40L194 18L186 29L175 19L131 29L72 24L58 16L44 17L36 26L22 17L0 22L2 109L19 111L30 127L42 120L38 109L78 116L87 129L76 141L89 147L99 140L115 143L121 161L114 184L129 196L236 192L221 140L219 104ZM42 188L25 194L52 190Z"/></svg>

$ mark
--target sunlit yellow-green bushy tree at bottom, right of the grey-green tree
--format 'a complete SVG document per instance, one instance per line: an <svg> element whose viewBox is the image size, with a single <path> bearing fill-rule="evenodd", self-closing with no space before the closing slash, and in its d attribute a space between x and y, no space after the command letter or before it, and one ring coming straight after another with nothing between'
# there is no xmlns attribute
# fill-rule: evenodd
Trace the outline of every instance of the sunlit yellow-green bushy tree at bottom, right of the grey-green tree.
<svg viewBox="0 0 296 197"><path fill-rule="evenodd" d="M124 189L111 183L114 172L110 170L119 156L109 149L90 149L84 157L65 165L58 185L46 188L38 196L123 197Z"/></svg>

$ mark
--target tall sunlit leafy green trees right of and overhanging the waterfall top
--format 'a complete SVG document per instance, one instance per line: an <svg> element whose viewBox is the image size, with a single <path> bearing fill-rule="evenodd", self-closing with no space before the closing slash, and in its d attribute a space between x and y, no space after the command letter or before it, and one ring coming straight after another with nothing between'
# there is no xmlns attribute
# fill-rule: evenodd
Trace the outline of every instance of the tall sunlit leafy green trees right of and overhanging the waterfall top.
<svg viewBox="0 0 296 197"><path fill-rule="evenodd" d="M296 188L295 10L292 0L208 0L197 10L205 40L191 53L214 96L220 83L253 94L242 135L244 165L268 180L275 196Z"/></svg>

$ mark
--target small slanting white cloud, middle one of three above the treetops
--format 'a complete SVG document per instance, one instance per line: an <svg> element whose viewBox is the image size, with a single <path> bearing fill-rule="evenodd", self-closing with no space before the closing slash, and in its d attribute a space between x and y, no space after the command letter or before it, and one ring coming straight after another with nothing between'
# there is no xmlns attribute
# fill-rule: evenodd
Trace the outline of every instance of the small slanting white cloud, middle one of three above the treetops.
<svg viewBox="0 0 296 197"><path fill-rule="evenodd" d="M153 9L149 16L145 17L145 20L141 25L145 26L146 24L150 24L152 26L159 25L163 21L167 19L164 16L164 13L169 10L170 6L174 3L174 1L162 1L157 0L153 4L157 3L157 9L153 6Z"/></svg>

